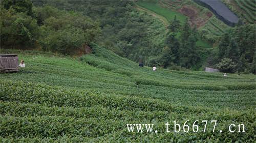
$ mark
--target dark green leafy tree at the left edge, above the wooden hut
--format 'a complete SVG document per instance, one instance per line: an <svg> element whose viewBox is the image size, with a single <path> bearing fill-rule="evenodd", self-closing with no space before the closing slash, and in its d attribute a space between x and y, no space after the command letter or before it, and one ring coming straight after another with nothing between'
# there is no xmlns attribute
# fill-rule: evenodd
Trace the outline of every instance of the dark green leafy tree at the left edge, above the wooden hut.
<svg viewBox="0 0 256 143"><path fill-rule="evenodd" d="M25 13L16 13L12 8L1 9L1 47L35 47L40 35L36 20Z"/></svg>

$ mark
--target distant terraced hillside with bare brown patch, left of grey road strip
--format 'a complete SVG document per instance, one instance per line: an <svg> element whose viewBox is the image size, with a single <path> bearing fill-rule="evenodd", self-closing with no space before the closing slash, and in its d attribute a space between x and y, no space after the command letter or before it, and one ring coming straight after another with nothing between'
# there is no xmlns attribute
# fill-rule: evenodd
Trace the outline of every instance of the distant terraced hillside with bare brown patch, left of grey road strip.
<svg viewBox="0 0 256 143"><path fill-rule="evenodd" d="M172 20L174 15L177 15L181 22L188 18L190 25L197 26L203 37L203 40L199 42L200 44L198 43L199 46L210 47L204 40L214 42L218 36L231 28L216 18L210 10L191 0L138 1L136 4L164 16L168 21Z"/></svg>

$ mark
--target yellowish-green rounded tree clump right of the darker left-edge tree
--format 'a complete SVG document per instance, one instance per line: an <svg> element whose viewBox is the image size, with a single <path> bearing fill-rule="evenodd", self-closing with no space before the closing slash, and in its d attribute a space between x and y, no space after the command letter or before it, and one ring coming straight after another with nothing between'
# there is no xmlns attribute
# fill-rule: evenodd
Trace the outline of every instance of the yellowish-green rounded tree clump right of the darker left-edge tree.
<svg viewBox="0 0 256 143"><path fill-rule="evenodd" d="M55 11L54 15L47 15ZM67 13L54 8L40 8L37 18L44 23L40 43L44 50L52 50L63 54L75 54L82 50L100 34L98 23L77 13ZM38 16L40 15L40 16ZM47 15L48 18L44 15Z"/></svg>

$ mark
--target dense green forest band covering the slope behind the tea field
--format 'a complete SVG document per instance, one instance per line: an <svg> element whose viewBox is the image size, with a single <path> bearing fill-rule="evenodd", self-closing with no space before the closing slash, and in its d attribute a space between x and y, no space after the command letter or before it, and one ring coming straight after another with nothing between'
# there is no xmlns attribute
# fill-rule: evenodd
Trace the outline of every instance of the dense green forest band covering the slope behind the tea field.
<svg viewBox="0 0 256 143"><path fill-rule="evenodd" d="M133 1L1 2L1 48L76 55L97 43L145 65L176 70L205 66L256 73L255 24L237 25L202 49L196 27L176 17L169 26L134 8Z"/></svg>

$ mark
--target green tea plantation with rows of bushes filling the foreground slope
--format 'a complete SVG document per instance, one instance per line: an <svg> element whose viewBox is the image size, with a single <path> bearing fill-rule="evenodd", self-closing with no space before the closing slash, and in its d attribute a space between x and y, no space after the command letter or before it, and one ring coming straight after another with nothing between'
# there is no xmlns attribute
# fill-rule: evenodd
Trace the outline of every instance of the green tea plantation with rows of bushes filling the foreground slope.
<svg viewBox="0 0 256 143"><path fill-rule="evenodd" d="M26 68L0 74L0 142L255 141L255 75L153 72L92 48L80 58L2 51L18 53ZM190 130L166 132L174 120L181 128L189 120ZM202 120L217 120L215 132L210 123L203 132ZM158 133L131 133L126 124L154 124ZM244 124L245 132L229 132L230 124Z"/></svg>

